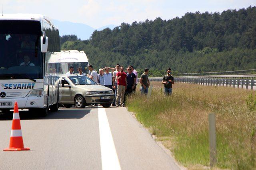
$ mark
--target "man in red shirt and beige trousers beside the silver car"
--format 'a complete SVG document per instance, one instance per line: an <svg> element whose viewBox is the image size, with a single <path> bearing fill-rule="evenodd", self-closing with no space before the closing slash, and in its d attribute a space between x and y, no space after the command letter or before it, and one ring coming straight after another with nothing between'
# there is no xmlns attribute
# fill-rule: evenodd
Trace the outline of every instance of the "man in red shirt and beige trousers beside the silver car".
<svg viewBox="0 0 256 170"><path fill-rule="evenodd" d="M116 107L123 106L124 103L124 93L126 90L126 73L124 72L124 67L120 66L120 72L116 73L116 80L117 80L117 95L116 95ZM118 101L120 99L120 104L118 104Z"/></svg>

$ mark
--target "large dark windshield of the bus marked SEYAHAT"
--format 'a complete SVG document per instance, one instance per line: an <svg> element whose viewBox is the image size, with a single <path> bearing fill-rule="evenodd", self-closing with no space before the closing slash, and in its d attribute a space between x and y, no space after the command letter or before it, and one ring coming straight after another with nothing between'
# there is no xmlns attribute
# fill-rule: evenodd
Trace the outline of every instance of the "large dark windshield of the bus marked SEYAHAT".
<svg viewBox="0 0 256 170"><path fill-rule="evenodd" d="M39 21L0 20L0 79L43 78Z"/></svg>

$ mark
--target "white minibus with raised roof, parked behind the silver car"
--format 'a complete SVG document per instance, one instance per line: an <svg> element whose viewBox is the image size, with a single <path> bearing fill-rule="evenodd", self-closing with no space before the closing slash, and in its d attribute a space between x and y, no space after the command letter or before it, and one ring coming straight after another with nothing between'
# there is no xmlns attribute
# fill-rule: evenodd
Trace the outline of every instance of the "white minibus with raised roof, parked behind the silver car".
<svg viewBox="0 0 256 170"><path fill-rule="evenodd" d="M84 51L64 50L54 54L60 57L58 58L58 63L61 63L62 74L66 74L70 66L74 67L74 74L78 74L78 67L82 68L82 72L85 75L90 74L90 70L88 69L89 61Z"/></svg>

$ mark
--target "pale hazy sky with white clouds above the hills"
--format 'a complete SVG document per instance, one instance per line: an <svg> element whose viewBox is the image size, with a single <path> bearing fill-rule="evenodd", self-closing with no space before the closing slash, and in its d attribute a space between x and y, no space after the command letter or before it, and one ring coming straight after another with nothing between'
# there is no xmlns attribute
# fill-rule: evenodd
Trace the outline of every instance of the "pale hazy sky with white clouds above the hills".
<svg viewBox="0 0 256 170"><path fill-rule="evenodd" d="M60 21L104 25L181 17L186 12L222 12L256 6L256 0L0 0L4 13L43 14Z"/></svg>

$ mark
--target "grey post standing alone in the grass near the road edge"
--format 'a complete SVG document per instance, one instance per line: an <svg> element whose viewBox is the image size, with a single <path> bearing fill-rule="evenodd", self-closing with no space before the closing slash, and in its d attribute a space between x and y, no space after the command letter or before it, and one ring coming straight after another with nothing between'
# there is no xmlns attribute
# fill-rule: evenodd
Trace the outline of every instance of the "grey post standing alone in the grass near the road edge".
<svg viewBox="0 0 256 170"><path fill-rule="evenodd" d="M209 114L209 142L210 142L210 166L216 164L216 126L215 113Z"/></svg>

